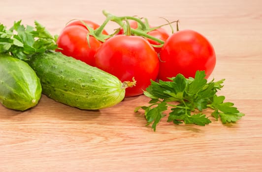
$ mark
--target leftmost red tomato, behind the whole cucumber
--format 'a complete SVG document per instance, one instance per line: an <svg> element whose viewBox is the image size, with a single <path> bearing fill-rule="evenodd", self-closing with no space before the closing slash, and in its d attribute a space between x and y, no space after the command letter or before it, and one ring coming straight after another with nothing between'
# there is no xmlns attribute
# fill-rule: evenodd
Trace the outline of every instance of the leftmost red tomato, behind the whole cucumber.
<svg viewBox="0 0 262 172"><path fill-rule="evenodd" d="M99 25L94 22L88 20L85 20L84 22L93 29L99 27ZM93 36L89 36L89 47L87 41L88 33L88 29L81 21L69 23L58 37L57 45L58 48L61 49L58 49L57 51L94 66L94 56L102 42L98 41ZM107 32L103 30L103 34L107 34Z"/></svg>

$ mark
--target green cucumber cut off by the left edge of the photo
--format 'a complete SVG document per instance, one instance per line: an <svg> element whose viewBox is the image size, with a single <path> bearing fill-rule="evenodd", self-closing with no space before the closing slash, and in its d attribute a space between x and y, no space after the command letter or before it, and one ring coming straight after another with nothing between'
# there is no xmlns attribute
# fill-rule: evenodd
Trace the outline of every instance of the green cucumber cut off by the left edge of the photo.
<svg viewBox="0 0 262 172"><path fill-rule="evenodd" d="M0 103L25 111L37 105L42 87L33 69L24 61L0 55Z"/></svg>

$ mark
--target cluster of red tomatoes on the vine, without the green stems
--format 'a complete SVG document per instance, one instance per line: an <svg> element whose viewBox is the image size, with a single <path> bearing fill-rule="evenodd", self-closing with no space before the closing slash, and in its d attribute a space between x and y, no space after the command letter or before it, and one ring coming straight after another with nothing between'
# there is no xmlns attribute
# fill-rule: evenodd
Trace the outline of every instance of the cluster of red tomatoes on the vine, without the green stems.
<svg viewBox="0 0 262 172"><path fill-rule="evenodd" d="M138 28L135 21L128 26ZM142 94L151 80L168 81L179 73L189 78L197 70L204 70L208 78L215 67L214 48L194 30L180 30L171 35L164 28L146 32L151 38L162 40L161 45L143 35L126 35L123 29L101 41L90 34L90 28L94 31L99 27L87 20L69 23L57 40L58 51L98 67L122 82L134 77L136 86L127 88L126 96ZM103 29L101 35L108 33Z"/></svg>

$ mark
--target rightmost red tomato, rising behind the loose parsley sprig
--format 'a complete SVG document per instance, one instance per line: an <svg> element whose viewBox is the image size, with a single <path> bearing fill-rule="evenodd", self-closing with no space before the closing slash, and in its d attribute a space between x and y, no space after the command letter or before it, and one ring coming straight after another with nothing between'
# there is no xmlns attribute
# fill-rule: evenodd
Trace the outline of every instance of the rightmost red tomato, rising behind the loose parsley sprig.
<svg viewBox="0 0 262 172"><path fill-rule="evenodd" d="M186 78L195 77L197 70L204 70L206 79L213 72L216 55L211 43L193 30L173 33L164 43L160 53L158 79L175 77L181 73Z"/></svg>

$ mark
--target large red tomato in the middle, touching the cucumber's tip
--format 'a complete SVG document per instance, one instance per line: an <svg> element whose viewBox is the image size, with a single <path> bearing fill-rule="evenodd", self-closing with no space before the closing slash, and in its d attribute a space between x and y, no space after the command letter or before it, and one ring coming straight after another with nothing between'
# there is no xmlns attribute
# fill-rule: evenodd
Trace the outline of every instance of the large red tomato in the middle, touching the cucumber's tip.
<svg viewBox="0 0 262 172"><path fill-rule="evenodd" d="M106 40L95 55L95 66L124 81L136 80L126 89L126 96L143 94L156 80L159 58L153 47L140 36L116 35Z"/></svg>

